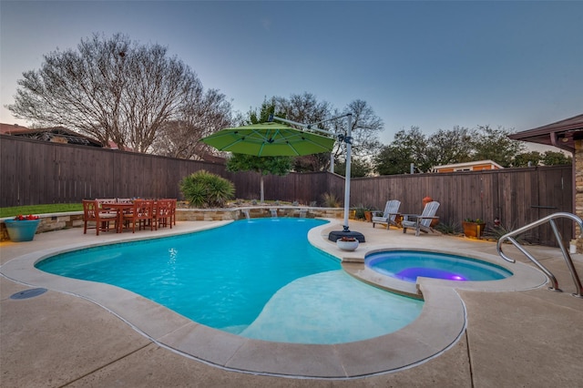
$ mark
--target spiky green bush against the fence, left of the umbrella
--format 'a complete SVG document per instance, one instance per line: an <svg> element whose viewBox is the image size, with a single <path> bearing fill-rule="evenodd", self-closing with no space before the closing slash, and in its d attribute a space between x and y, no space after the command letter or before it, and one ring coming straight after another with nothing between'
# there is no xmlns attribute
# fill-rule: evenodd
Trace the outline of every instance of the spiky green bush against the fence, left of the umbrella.
<svg viewBox="0 0 583 388"><path fill-rule="evenodd" d="M235 197L235 185L228 179L201 169L180 181L180 191L190 206L220 208Z"/></svg>

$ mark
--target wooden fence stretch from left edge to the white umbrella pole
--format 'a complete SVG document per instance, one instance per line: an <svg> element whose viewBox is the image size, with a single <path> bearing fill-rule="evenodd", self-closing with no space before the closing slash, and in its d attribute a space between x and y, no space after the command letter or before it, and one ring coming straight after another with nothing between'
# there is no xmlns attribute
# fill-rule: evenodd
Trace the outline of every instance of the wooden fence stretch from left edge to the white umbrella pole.
<svg viewBox="0 0 583 388"><path fill-rule="evenodd" d="M180 198L179 181L206 169L230 179L240 199L259 199L261 176L224 165L119 150L0 136L0 207L72 203L95 198ZM267 199L309 204L343 177L325 172L265 176ZM336 182L335 184L333 182Z"/></svg>

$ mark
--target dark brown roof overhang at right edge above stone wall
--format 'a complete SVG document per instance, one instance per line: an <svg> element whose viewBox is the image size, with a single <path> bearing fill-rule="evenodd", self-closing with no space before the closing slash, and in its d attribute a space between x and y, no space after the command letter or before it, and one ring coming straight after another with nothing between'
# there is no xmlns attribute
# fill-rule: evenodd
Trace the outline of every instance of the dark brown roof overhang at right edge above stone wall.
<svg viewBox="0 0 583 388"><path fill-rule="evenodd" d="M583 115L566 118L543 127L517 132L508 136L508 138L545 144L575 152L575 140L583 139Z"/></svg>

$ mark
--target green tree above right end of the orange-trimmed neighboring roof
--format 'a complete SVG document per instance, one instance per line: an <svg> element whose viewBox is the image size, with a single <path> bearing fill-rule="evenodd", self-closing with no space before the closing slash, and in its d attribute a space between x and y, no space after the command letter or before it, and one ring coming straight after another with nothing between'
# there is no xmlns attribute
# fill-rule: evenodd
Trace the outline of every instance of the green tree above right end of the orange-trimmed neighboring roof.
<svg viewBox="0 0 583 388"><path fill-rule="evenodd" d="M493 160L502 167L510 167L512 159L526 148L518 140L508 138L512 131L506 128L478 126L471 141L472 160Z"/></svg>

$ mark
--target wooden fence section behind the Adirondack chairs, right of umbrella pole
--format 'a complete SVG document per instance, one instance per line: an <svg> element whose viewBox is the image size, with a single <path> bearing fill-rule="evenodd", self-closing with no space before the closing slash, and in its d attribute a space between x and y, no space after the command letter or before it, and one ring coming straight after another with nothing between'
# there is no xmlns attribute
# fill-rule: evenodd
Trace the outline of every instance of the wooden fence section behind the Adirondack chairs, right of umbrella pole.
<svg viewBox="0 0 583 388"><path fill-rule="evenodd" d="M441 204L437 216L448 224L479 218L492 226L498 218L507 229L517 229L558 211L573 212L571 166L393 175L352 182L353 203L383 209L387 199L399 199L402 212L418 214L424 197L431 197ZM572 222L557 220L557 226L565 239L573 236ZM531 230L527 240L556 244L548 224Z"/></svg>

